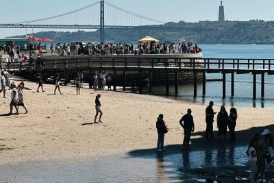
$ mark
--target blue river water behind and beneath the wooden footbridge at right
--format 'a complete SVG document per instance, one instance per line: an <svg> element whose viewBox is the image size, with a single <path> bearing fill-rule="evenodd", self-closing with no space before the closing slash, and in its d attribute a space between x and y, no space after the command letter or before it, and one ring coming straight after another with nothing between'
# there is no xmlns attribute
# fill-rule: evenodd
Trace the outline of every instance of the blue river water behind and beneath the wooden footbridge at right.
<svg viewBox="0 0 274 183"><path fill-rule="evenodd" d="M201 45L203 58L274 58L274 45ZM207 79L221 79L221 73L210 73ZM256 108L274 107L274 75L265 75L265 97L260 99L261 76L257 76L257 97L253 97L253 77L251 74L235 75L235 97L230 97L230 74L226 77L226 99L222 99L222 82L207 82L206 97L202 96L202 85L197 86L195 101L208 103L214 101L219 105L245 106ZM170 86L171 95L175 87ZM154 87L153 94L164 95L165 87ZM179 98L193 99L193 86L179 86Z"/></svg>

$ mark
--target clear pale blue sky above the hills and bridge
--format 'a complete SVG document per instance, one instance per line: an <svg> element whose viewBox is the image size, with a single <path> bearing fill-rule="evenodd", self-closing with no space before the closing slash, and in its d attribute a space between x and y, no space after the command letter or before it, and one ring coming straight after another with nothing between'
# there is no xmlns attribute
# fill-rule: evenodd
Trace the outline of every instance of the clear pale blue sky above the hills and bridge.
<svg viewBox="0 0 274 183"><path fill-rule="evenodd" d="M99 0L9 0L1 2L0 23L14 23L40 19L65 12L70 12ZM130 12L147 16L164 22L198 22L217 21L220 0L107 0ZM27 3L26 3L27 2ZM262 19L274 21L273 0L223 0L225 6L225 20L249 21ZM6 7L6 8L4 8ZM84 16L85 18L86 16ZM53 29L34 29L34 32ZM56 31L56 30L55 30ZM58 29L62 31L62 29ZM67 31L67 30L64 30ZM73 30L75 31L75 30ZM0 28L0 38L32 33L32 29Z"/></svg>

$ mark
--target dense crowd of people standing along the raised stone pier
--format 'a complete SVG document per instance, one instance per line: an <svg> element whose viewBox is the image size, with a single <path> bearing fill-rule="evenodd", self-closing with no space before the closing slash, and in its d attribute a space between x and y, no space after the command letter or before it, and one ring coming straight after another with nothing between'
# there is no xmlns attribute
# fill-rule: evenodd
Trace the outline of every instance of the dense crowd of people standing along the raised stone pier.
<svg viewBox="0 0 274 183"><path fill-rule="evenodd" d="M36 50L36 49L35 49ZM166 44L164 42L147 42L136 47L132 44L112 43L108 44L87 44L74 42L71 44L51 43L50 52L52 55L143 55L143 54L175 54L175 53L200 53L202 49L192 42L182 42L179 44ZM39 54L35 51L34 54ZM40 53L41 54L41 53Z"/></svg>

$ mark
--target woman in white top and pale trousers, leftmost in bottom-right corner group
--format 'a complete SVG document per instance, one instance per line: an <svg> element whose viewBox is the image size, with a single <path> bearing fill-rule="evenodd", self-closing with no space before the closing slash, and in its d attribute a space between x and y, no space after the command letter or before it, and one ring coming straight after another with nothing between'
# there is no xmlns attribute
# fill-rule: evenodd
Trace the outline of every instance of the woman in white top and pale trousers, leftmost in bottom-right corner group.
<svg viewBox="0 0 274 183"><path fill-rule="evenodd" d="M252 139L249 143L249 147L247 149L249 155L249 167L250 167L250 176L249 180L251 183L256 182L257 179L257 154L256 149L254 148L254 139Z"/></svg>

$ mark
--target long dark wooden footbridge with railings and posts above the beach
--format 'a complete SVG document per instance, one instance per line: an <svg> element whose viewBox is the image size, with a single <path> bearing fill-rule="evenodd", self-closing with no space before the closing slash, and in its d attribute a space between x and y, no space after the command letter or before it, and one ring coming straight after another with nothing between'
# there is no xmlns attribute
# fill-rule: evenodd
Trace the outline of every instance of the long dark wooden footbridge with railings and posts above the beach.
<svg viewBox="0 0 274 183"><path fill-rule="evenodd" d="M10 65L10 70L18 71L16 63ZM253 99L257 98L256 78L261 75L261 98L264 98L264 75L274 75L273 59L235 59L235 58L182 58L177 55L168 56L77 56L42 58L28 66L29 71L54 71L68 73L68 71L123 71L123 90L126 88L126 75L128 71L166 73L166 95L169 95L169 73L175 73L175 95L178 93L178 73L193 73L193 97L197 97L197 74L202 73L203 95L206 95L206 73L221 73L223 75L223 98L226 97L226 78L231 75L231 96L235 95L234 75L253 75ZM5 68L5 64L0 69ZM116 85L114 84L114 89Z"/></svg>

